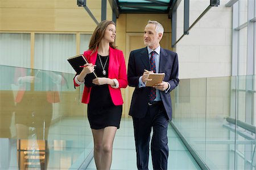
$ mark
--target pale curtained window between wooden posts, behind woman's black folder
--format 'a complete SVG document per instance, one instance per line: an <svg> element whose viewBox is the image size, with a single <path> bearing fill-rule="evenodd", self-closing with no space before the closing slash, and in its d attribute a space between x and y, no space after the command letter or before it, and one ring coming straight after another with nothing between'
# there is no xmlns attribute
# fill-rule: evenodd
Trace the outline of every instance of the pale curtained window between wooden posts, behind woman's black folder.
<svg viewBox="0 0 256 170"><path fill-rule="evenodd" d="M67 61L75 55L75 34L35 34L36 69L75 73Z"/></svg>

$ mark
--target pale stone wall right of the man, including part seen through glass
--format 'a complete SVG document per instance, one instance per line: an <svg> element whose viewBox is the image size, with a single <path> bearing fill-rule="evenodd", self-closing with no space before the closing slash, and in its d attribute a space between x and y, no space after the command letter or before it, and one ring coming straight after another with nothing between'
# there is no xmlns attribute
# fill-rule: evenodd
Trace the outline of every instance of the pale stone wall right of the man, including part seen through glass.
<svg viewBox="0 0 256 170"><path fill-rule="evenodd" d="M223 77L230 76L232 69L232 8L225 6L227 2L212 7L176 45L183 88L172 95L184 90L187 94L179 96L179 101L172 97L174 118L200 119L207 115L219 121L230 114L230 77ZM183 6L180 3L177 9L177 39L183 35ZM190 1L189 25L208 6L208 1ZM192 78L187 86L185 78Z"/></svg>

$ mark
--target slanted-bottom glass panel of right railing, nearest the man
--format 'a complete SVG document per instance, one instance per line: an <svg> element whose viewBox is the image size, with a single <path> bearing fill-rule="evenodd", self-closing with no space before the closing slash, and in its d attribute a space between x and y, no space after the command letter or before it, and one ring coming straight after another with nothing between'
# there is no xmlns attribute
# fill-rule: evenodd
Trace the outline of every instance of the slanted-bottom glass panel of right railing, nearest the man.
<svg viewBox="0 0 256 170"><path fill-rule="evenodd" d="M172 122L205 161L206 79L180 80L179 86L171 95Z"/></svg>

